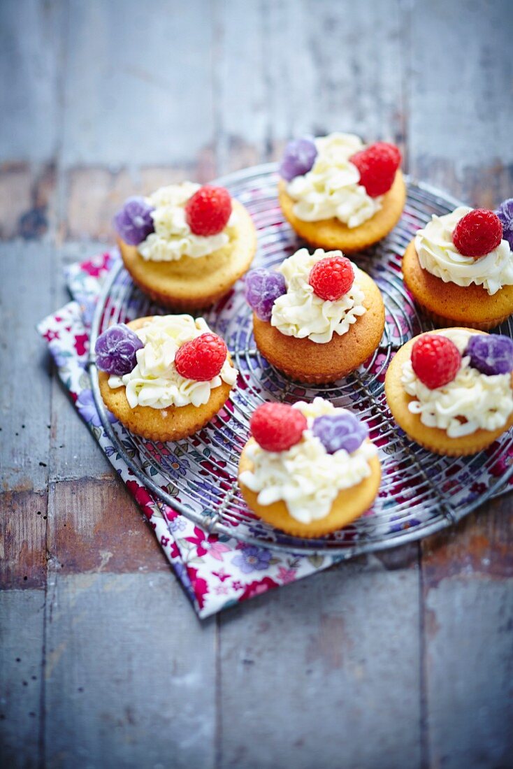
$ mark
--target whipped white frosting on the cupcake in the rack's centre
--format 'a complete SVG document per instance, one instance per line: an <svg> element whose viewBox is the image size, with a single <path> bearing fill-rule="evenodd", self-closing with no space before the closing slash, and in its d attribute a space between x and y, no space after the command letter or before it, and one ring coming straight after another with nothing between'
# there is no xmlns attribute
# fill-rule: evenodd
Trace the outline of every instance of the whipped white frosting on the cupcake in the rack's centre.
<svg viewBox="0 0 513 769"><path fill-rule="evenodd" d="M309 254L306 248L300 248L281 263L278 272L285 278L287 293L278 297L272 306L271 326L285 336L308 337L321 345L331 341L334 334L341 336L351 328L366 312L358 267L351 262L355 281L348 293L337 301L321 299L308 282L311 268L319 259L341 255L341 251L323 251L322 248Z"/></svg>

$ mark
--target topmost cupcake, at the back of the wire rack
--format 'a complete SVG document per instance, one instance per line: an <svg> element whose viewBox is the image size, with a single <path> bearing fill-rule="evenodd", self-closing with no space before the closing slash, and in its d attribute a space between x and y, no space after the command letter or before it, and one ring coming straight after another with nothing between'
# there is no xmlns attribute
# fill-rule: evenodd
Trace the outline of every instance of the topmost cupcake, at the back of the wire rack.
<svg viewBox="0 0 513 769"><path fill-rule="evenodd" d="M301 238L327 250L361 251L401 218L406 188L395 145L354 134L301 138L285 148L278 197Z"/></svg>

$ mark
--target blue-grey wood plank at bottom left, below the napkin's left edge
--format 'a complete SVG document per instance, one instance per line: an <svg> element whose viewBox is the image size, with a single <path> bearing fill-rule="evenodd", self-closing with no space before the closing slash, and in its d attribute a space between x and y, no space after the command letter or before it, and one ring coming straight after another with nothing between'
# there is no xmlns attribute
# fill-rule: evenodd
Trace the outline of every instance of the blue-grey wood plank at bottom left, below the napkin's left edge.
<svg viewBox="0 0 513 769"><path fill-rule="evenodd" d="M213 767L215 622L169 574L48 582L49 769Z"/></svg>

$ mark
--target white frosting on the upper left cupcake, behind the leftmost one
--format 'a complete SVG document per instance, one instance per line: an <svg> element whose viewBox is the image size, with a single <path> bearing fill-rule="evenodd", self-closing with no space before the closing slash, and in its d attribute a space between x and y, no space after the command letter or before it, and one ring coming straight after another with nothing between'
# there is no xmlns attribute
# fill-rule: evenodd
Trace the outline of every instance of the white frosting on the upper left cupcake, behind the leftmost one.
<svg viewBox="0 0 513 769"><path fill-rule="evenodd" d="M197 259L212 254L227 245L233 236L236 215L217 235L194 235L185 219L185 205L201 185L184 181L179 185L161 187L147 198L154 206L152 219L155 232L138 245L146 261L176 261L183 256Z"/></svg>

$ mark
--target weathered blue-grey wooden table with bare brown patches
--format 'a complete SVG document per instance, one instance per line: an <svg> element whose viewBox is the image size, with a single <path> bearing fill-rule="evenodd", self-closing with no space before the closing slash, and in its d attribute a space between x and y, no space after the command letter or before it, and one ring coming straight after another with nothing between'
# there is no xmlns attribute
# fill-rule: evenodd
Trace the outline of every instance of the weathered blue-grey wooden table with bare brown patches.
<svg viewBox="0 0 513 769"><path fill-rule="evenodd" d="M512 765L511 496L200 623L34 330L126 195L291 135L512 195L511 8L2 2L2 766Z"/></svg>

